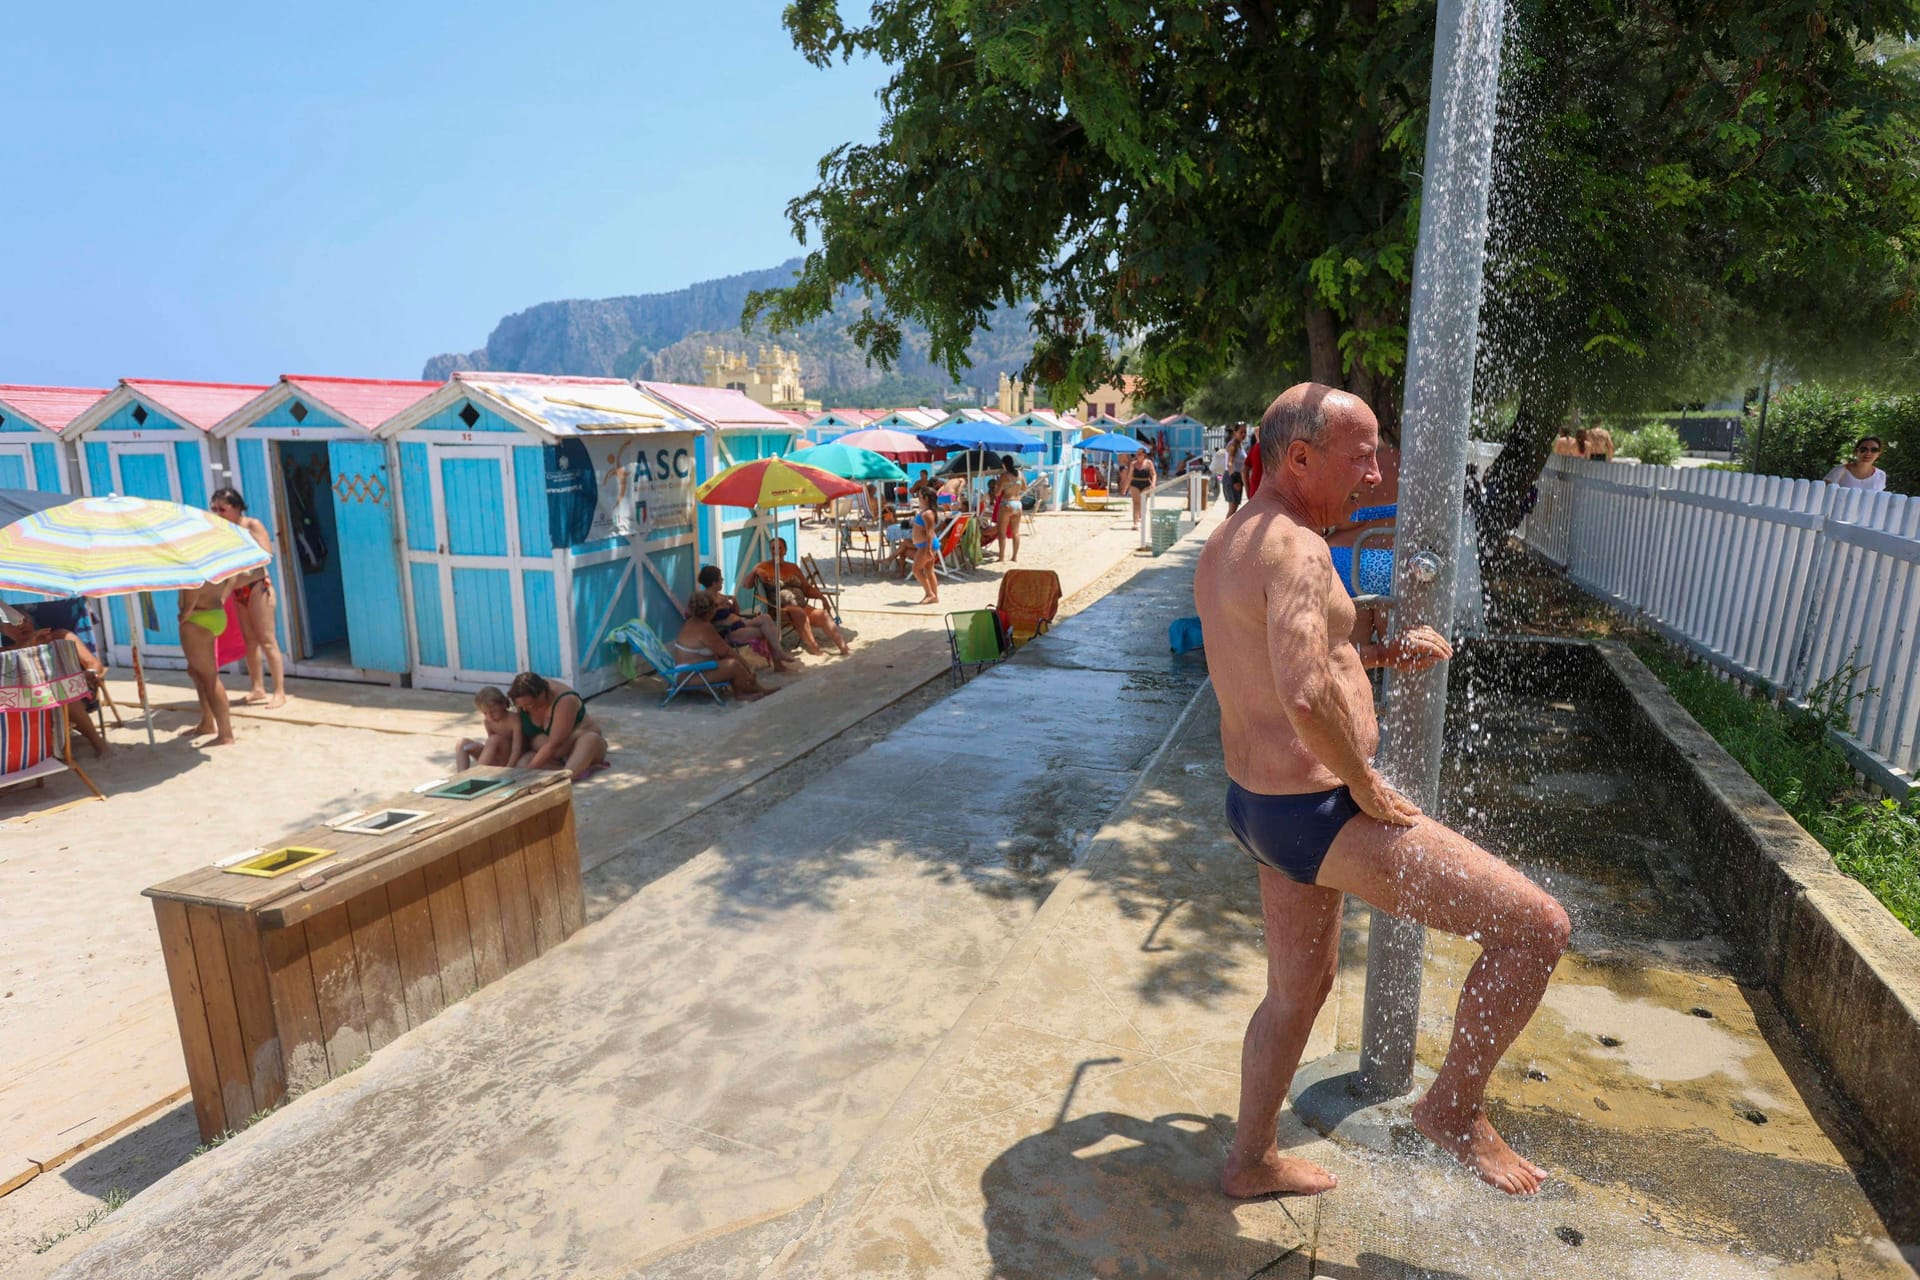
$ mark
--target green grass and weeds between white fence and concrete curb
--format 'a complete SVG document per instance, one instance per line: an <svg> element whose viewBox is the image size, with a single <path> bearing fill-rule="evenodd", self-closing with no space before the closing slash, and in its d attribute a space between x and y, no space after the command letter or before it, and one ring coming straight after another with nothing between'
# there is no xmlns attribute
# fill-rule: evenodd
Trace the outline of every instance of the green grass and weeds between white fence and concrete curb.
<svg viewBox="0 0 1920 1280"><path fill-rule="evenodd" d="M1855 787L1853 764L1826 733L1830 725L1845 725L1845 699L1834 693L1845 679L1816 689L1809 714L1753 697L1665 645L1634 645L1634 652L1753 781L1834 854L1841 871L1920 935L1920 806ZM1851 679L1853 672L1843 676Z"/></svg>

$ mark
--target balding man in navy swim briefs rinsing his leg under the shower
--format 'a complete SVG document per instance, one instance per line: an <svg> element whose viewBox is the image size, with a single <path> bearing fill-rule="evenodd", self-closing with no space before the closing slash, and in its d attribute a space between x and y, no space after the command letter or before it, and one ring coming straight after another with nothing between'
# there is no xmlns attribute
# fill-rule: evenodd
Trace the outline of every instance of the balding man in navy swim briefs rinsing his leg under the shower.
<svg viewBox="0 0 1920 1280"><path fill-rule="evenodd" d="M1208 541L1194 578L1233 779L1227 821L1260 864L1269 958L1221 1174L1231 1196L1334 1184L1317 1165L1279 1153L1275 1123L1332 986L1342 892L1480 942L1453 1042L1413 1121L1503 1192L1530 1194L1546 1178L1494 1132L1484 1092L1546 990L1567 944L1567 913L1375 771L1379 722L1365 668L1425 670L1452 649L1428 628L1356 647L1354 603L1315 532L1379 484L1377 441L1359 399L1313 384L1284 391L1260 430L1261 487Z"/></svg>

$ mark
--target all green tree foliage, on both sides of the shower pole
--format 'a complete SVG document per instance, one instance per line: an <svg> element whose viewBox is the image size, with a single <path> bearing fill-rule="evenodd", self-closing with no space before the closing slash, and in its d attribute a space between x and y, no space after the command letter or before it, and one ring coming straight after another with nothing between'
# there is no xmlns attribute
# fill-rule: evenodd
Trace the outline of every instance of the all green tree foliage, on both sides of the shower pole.
<svg viewBox="0 0 1920 1280"><path fill-rule="evenodd" d="M914 322L958 370L996 305L1033 299L1029 372L1056 403L1125 368L1250 416L1311 376L1394 432L1430 0L858 10L787 6L808 59L874 56L893 79L877 140L828 154L789 205L818 248L749 317L791 328L854 288L870 357ZM1764 353L1818 368L1836 330L1910 349L1920 111L1872 42L1916 13L1511 0L1480 367L1511 418L1496 520L1519 518L1572 403L1726 386Z"/></svg>

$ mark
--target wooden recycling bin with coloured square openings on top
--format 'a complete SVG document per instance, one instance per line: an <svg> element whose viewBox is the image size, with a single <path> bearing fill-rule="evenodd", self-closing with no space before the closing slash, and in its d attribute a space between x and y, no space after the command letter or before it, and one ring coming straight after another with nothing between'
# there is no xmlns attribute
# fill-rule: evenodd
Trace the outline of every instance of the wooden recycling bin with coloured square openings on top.
<svg viewBox="0 0 1920 1280"><path fill-rule="evenodd" d="M468 770L227 864L146 890L205 1140L357 1067L584 917L564 771Z"/></svg>

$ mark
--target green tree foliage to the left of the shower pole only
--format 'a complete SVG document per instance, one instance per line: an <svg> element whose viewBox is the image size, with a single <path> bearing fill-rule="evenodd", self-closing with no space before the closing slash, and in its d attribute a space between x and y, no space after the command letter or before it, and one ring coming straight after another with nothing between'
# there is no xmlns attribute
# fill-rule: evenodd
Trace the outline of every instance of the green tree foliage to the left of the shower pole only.
<svg viewBox="0 0 1920 1280"><path fill-rule="evenodd" d="M820 248L749 315L803 324L854 286L876 359L914 320L958 368L996 303L1037 299L1031 372L1054 403L1123 368L1194 390L1254 351L1352 388L1392 428L1432 4L847 8L795 0L787 27L820 65L891 63L887 115L791 203Z"/></svg>

